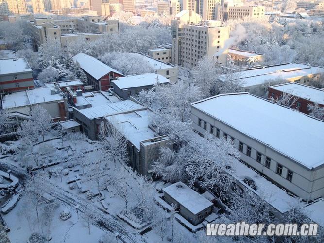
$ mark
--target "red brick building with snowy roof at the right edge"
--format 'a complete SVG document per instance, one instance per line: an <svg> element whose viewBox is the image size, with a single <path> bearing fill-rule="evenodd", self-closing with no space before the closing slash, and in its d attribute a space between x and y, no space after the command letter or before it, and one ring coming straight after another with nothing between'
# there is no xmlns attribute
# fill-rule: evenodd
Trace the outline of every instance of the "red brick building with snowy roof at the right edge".
<svg viewBox="0 0 324 243"><path fill-rule="evenodd" d="M295 82L274 85L268 88L268 98L278 99L283 93L297 97L297 101L292 105L292 108L298 109L300 112L309 114L307 109L308 104L317 103L320 107L324 107L324 90L310 87L307 85L298 84Z"/></svg>

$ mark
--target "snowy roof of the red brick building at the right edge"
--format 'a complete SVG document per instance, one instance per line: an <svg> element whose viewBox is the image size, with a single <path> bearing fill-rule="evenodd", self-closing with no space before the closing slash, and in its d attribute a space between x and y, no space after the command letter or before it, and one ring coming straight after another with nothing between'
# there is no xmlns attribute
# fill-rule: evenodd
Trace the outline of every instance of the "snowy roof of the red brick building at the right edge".
<svg viewBox="0 0 324 243"><path fill-rule="evenodd" d="M274 85L271 88L288 93L300 98L324 105L324 90L290 82L282 85Z"/></svg>

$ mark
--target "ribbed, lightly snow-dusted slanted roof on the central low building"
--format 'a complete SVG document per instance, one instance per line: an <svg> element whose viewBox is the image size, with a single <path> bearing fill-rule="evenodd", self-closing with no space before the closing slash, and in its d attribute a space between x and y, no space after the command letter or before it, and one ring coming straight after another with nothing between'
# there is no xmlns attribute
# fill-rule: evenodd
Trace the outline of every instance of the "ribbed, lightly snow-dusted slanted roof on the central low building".
<svg viewBox="0 0 324 243"><path fill-rule="evenodd" d="M78 110L78 109L76 110L78 110L78 112L80 112L87 118L94 119L94 118L113 115L119 112L131 111L131 110L142 109L142 108L144 108L144 106L137 104L134 101L125 100L125 101L119 101L111 104L104 104L101 106L86 108L82 110Z"/></svg>

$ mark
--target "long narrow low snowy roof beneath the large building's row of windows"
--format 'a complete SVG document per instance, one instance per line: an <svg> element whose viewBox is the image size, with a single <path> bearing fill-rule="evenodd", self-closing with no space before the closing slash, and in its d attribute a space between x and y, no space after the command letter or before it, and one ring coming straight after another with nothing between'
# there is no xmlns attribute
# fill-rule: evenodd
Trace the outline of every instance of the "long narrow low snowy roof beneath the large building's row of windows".
<svg viewBox="0 0 324 243"><path fill-rule="evenodd" d="M250 188L250 190L257 195L262 196L266 202L279 212L285 213L290 211L294 206L300 203L298 198L290 196L286 191L274 185L271 181L267 180L253 169L247 167L245 164L239 162L239 160L234 160L232 168L234 169L232 175L239 180L242 185ZM245 178L254 181L256 190L252 189L244 182Z"/></svg>

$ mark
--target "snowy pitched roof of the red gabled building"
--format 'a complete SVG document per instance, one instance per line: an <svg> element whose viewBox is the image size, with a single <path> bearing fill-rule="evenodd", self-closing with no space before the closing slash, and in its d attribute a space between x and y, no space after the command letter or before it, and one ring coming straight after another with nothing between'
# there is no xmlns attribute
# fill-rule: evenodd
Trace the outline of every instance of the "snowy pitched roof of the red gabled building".
<svg viewBox="0 0 324 243"><path fill-rule="evenodd" d="M98 59L86 55L84 53L79 53L73 57L74 61L77 61L80 64L80 67L89 73L95 79L100 79L109 72L115 72L120 75L123 75L119 71L110 68L108 65L102 63Z"/></svg>

